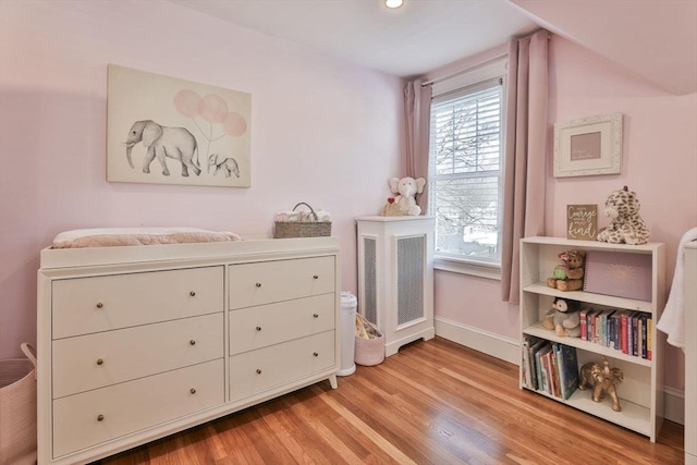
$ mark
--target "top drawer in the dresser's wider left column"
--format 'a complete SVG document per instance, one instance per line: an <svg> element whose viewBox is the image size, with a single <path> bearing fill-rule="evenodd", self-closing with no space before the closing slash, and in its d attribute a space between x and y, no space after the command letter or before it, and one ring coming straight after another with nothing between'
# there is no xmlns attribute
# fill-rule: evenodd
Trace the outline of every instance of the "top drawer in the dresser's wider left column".
<svg viewBox="0 0 697 465"><path fill-rule="evenodd" d="M53 339L222 311L223 286L223 267L57 280Z"/></svg>

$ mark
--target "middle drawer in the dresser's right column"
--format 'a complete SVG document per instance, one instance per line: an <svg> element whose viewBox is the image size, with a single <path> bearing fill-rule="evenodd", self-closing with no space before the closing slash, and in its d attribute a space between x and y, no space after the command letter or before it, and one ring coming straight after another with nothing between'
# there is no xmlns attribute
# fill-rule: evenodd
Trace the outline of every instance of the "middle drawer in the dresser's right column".
<svg viewBox="0 0 697 465"><path fill-rule="evenodd" d="M230 313L230 355L334 329L334 294Z"/></svg>

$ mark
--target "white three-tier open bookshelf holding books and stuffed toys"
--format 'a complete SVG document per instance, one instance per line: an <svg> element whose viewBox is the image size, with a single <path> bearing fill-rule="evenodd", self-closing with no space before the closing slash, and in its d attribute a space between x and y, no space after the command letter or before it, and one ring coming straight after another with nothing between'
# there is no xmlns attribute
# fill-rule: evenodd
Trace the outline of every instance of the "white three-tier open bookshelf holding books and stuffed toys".
<svg viewBox="0 0 697 465"><path fill-rule="evenodd" d="M617 254L640 254L650 257L650 301L616 297L584 291L562 292L547 286L547 278L552 276L560 264L558 254L563 250L606 250ZM656 441L663 417L663 376L661 354L656 325L648 325L647 338L652 346L651 359L628 355L621 350L582 340L580 338L558 336L545 329L541 321L552 308L554 297L578 301L596 309L624 309L639 311L652 322L660 318L664 306L664 246L659 243L644 245L608 244L594 241L568 241L559 237L527 237L521 241L521 341L535 336L553 343L576 347L578 366L588 362L601 362L608 357L611 367L620 368L624 381L617 387L622 411L614 412L608 399L597 403L591 400L591 390L576 390L568 400L536 391L550 399L587 412L608 421L637 431ZM526 388L524 366L521 364L521 388ZM529 388L529 387L527 387Z"/></svg>

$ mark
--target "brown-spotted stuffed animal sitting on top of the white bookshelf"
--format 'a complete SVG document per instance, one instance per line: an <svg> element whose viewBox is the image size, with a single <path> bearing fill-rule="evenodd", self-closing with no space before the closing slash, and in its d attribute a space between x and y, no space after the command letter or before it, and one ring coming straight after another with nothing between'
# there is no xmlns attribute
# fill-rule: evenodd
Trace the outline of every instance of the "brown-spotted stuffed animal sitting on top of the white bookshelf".
<svg viewBox="0 0 697 465"><path fill-rule="evenodd" d="M598 241L632 245L649 242L649 230L639 216L639 199L627 186L611 192L603 211L610 218L610 225L598 231Z"/></svg>

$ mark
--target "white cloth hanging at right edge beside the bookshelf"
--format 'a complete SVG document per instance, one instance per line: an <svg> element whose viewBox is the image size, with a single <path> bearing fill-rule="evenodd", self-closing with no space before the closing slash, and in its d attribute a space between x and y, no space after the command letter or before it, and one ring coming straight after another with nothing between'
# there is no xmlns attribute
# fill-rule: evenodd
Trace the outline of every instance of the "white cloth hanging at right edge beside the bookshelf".
<svg viewBox="0 0 697 465"><path fill-rule="evenodd" d="M685 244L697 241L697 228L683 234L677 247L675 274L663 315L656 328L668 334L668 343L685 350ZM692 283L694 285L694 283ZM697 334L690 334L692 338Z"/></svg>

